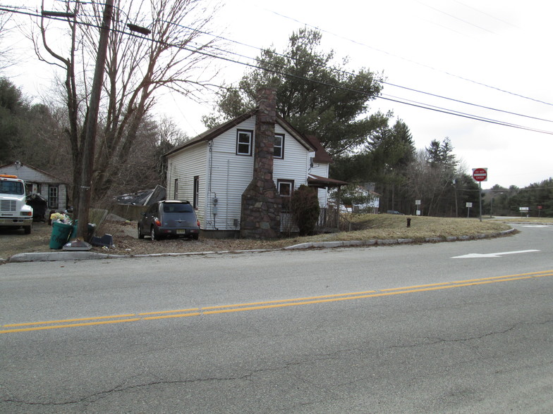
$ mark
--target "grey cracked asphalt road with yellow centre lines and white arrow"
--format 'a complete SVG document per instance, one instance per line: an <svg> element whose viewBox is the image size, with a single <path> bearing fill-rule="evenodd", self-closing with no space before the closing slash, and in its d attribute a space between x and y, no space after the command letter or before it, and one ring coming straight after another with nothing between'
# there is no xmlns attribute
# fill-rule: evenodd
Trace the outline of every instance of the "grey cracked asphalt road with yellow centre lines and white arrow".
<svg viewBox="0 0 553 414"><path fill-rule="evenodd" d="M553 226L516 227L2 265L0 412L553 412Z"/></svg>

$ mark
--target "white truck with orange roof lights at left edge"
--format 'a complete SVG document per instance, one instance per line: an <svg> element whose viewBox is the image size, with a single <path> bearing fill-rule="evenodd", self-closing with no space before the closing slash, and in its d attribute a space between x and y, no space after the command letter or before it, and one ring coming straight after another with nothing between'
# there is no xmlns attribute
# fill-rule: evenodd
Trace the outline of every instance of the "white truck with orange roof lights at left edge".
<svg viewBox="0 0 553 414"><path fill-rule="evenodd" d="M32 230L32 207L27 205L25 182L17 175L0 174L0 227Z"/></svg>

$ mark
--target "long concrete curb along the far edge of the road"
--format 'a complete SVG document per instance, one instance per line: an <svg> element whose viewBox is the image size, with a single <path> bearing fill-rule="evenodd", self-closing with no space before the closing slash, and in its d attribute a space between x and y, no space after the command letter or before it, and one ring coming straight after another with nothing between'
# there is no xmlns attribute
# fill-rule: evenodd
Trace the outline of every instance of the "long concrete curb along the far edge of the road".
<svg viewBox="0 0 553 414"><path fill-rule="evenodd" d="M240 250L240 251L195 251L190 253L154 253L154 254L137 254L133 256L93 253L90 251L55 251L44 253L18 253L8 258L7 261L0 258L0 263L24 263L24 262L49 262L49 261L87 261L94 259L111 259L111 258L137 258L137 257L160 257L160 256L198 256L204 254L224 254L224 253L259 253L264 251L275 250L301 250L301 249L334 249L336 247L359 247L359 246L393 246L395 244L412 244L412 243L441 243L441 242L457 242L473 239L490 239L492 237L502 237L514 232L515 229L504 230L503 232L491 234L474 234L472 236L450 236L450 237L427 237L424 240L415 239L370 239L370 240L351 240L346 242L308 242L295 244L293 246L284 247L282 249L257 249L257 250Z"/></svg>

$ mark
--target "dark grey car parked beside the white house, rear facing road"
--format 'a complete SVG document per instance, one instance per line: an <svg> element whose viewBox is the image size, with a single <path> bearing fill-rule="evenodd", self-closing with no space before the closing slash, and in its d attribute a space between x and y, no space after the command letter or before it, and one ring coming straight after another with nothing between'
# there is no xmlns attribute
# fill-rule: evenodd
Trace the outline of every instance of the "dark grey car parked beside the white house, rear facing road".
<svg viewBox="0 0 553 414"><path fill-rule="evenodd" d="M164 200L152 204L138 222L138 238L200 237L200 221L188 201Z"/></svg>

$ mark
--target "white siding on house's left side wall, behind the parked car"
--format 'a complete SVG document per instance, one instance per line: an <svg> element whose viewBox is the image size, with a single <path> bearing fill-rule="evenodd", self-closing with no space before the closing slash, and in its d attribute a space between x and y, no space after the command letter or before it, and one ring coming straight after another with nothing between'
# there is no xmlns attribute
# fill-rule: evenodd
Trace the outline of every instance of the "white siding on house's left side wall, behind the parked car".
<svg viewBox="0 0 553 414"><path fill-rule="evenodd" d="M205 188L208 153L207 143L199 142L167 157L167 199L174 198L175 179L178 179L178 199L192 203L194 199L194 177L196 175L200 177L200 196L196 214L202 229L206 228Z"/></svg>

